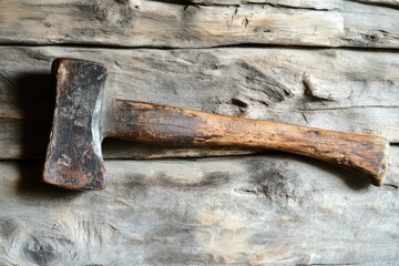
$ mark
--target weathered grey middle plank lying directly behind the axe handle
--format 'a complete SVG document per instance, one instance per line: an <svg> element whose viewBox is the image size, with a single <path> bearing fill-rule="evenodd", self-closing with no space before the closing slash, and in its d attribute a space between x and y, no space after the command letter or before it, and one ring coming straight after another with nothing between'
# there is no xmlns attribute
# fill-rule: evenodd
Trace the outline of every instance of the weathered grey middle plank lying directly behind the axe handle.
<svg viewBox="0 0 399 266"><path fill-rule="evenodd" d="M54 98L50 65L83 58L110 69L108 96L178 105L399 140L399 61L392 52L307 49L0 50L0 157L37 157ZM219 155L236 151L108 143L106 157Z"/></svg>

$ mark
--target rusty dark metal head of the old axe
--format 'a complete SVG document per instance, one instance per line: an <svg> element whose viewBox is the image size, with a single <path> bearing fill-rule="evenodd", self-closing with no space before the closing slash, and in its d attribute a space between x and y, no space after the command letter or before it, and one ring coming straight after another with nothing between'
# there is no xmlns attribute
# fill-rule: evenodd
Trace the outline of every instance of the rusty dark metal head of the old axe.
<svg viewBox="0 0 399 266"><path fill-rule="evenodd" d="M99 63L58 59L55 109L43 181L70 190L102 190L101 109L106 69Z"/></svg>

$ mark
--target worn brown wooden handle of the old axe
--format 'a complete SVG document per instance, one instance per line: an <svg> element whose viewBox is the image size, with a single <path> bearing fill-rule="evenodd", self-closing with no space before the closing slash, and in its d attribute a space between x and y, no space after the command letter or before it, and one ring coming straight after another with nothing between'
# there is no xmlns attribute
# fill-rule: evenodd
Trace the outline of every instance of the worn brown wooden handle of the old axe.
<svg viewBox="0 0 399 266"><path fill-rule="evenodd" d="M105 134L151 144L284 151L342 166L377 186L388 168L389 142L381 136L117 99L112 100Z"/></svg>

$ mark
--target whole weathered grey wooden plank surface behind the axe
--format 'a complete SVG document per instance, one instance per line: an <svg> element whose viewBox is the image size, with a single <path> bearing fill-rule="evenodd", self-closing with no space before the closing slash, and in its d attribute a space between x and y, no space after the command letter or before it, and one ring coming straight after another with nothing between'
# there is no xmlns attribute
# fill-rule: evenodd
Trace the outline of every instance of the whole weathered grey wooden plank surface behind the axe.
<svg viewBox="0 0 399 266"><path fill-rule="evenodd" d="M398 10L0 1L0 264L398 265ZM383 135L386 184L277 152L115 140L103 145L105 191L41 184L58 57L105 63L109 96Z"/></svg>

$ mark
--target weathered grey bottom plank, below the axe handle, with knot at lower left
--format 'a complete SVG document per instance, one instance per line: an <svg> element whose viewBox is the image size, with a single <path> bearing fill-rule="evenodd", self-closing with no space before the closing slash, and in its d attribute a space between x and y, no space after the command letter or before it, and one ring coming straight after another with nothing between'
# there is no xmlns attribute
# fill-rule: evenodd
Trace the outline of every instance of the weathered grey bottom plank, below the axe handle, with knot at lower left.
<svg viewBox="0 0 399 266"><path fill-rule="evenodd" d="M287 154L106 161L102 192L0 162L2 265L396 265L399 149L387 185Z"/></svg>

